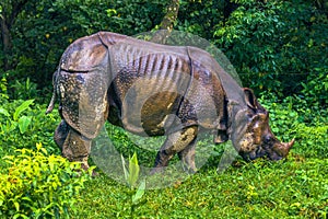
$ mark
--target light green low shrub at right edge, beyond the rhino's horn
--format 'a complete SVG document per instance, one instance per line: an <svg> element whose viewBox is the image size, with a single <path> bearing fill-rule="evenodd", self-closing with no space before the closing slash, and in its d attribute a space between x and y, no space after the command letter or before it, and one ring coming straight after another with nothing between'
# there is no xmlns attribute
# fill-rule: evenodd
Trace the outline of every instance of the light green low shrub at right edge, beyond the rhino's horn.
<svg viewBox="0 0 328 219"><path fill-rule="evenodd" d="M270 112L270 127L274 135L282 141L295 138L292 151L303 157L327 158L328 117L323 106L313 102L314 99L295 95L279 101L277 96L263 93L260 102Z"/></svg>

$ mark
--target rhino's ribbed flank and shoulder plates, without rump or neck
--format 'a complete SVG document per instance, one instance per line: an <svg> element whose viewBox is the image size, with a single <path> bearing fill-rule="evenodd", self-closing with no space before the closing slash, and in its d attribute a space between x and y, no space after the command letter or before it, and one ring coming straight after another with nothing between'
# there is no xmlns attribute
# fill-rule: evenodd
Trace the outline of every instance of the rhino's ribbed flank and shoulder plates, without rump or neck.
<svg viewBox="0 0 328 219"><path fill-rule="evenodd" d="M116 124L148 135L162 135L177 124L226 128L226 93L219 77L224 70L211 55L129 37L108 49L114 73L109 102L116 112L109 117Z"/></svg>

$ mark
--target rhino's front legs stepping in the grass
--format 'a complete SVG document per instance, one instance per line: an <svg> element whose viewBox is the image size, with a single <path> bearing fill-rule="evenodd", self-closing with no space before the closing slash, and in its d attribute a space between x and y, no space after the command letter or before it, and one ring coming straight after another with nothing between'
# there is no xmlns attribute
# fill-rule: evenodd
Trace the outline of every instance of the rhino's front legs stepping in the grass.
<svg viewBox="0 0 328 219"><path fill-rule="evenodd" d="M186 151L181 152L181 157L184 157L183 162L186 161L186 164L190 165L189 169L192 170L195 169L194 171L196 171L195 163L192 163L191 158L192 158L192 147L194 147L192 145L195 145L197 134L198 134L197 126L190 126L184 128L181 131L171 134L165 140L160 151L157 152L155 159L155 165L151 173L153 174L162 171L164 166L168 165L168 161L173 158L175 153L181 152L184 150ZM189 155L185 157L185 154L189 154Z"/></svg>

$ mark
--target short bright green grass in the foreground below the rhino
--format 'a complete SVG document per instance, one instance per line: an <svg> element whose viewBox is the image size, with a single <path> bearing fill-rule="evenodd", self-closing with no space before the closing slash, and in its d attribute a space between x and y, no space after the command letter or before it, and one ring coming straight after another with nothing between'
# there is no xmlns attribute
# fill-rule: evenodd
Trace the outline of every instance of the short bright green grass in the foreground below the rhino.
<svg viewBox="0 0 328 219"><path fill-rule="evenodd" d="M236 160L223 173L204 166L184 182L145 191L131 211L129 188L101 174L73 218L327 218L328 159Z"/></svg>

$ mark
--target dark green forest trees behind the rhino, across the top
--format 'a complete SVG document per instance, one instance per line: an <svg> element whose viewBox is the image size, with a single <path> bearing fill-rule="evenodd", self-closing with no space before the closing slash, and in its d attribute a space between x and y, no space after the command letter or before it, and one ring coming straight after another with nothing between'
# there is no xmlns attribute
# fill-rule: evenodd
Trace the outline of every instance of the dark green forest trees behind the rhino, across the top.
<svg viewBox="0 0 328 219"><path fill-rule="evenodd" d="M244 84L283 96L327 76L327 14L325 0L3 0L0 74L9 88L30 78L47 90L74 39L168 27L212 42Z"/></svg>

